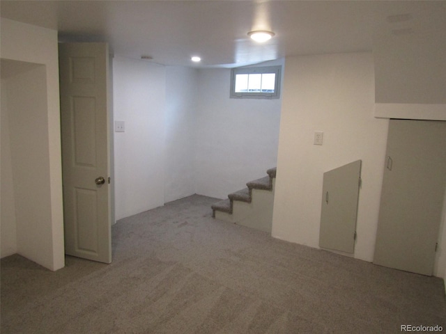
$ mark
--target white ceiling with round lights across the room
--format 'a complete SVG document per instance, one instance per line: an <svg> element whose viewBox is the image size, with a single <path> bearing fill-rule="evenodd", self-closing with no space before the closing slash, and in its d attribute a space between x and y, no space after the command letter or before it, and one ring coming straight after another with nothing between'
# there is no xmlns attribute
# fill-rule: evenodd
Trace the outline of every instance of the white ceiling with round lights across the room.
<svg viewBox="0 0 446 334"><path fill-rule="evenodd" d="M1 17L106 41L119 56L233 67L284 56L369 51L382 34L445 38L446 1L10 1ZM263 45L252 30L271 30ZM190 57L201 56L199 65Z"/></svg>

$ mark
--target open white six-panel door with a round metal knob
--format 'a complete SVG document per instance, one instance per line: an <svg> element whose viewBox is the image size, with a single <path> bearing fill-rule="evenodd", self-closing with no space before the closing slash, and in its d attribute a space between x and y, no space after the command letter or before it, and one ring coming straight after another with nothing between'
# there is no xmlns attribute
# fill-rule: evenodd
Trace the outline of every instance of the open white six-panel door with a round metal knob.
<svg viewBox="0 0 446 334"><path fill-rule="evenodd" d="M59 45L66 254L112 262L108 45Z"/></svg>

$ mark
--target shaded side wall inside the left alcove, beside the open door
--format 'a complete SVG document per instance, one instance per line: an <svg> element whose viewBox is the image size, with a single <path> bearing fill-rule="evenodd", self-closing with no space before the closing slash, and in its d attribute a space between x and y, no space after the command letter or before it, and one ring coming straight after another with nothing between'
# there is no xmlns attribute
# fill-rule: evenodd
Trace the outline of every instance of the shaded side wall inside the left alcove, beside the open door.
<svg viewBox="0 0 446 334"><path fill-rule="evenodd" d="M51 266L51 202L45 66L8 79L8 125L17 253Z"/></svg>

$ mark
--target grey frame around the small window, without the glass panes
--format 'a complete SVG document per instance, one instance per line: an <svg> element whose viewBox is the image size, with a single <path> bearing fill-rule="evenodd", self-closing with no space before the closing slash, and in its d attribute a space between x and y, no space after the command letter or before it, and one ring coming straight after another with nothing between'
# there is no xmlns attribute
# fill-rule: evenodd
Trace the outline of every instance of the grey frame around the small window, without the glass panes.
<svg viewBox="0 0 446 334"><path fill-rule="evenodd" d="M229 97L231 99L278 99L280 97L282 66L253 66L253 67L236 67L231 70L231 90ZM275 92L274 93L236 93L236 76L237 74L275 74Z"/></svg>

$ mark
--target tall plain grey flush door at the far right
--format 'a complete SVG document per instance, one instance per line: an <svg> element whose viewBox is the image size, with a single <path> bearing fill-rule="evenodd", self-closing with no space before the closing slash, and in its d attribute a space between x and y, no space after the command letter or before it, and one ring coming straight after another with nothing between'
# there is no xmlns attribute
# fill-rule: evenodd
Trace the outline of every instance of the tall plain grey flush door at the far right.
<svg viewBox="0 0 446 334"><path fill-rule="evenodd" d="M432 275L445 148L446 122L390 120L374 263Z"/></svg>

